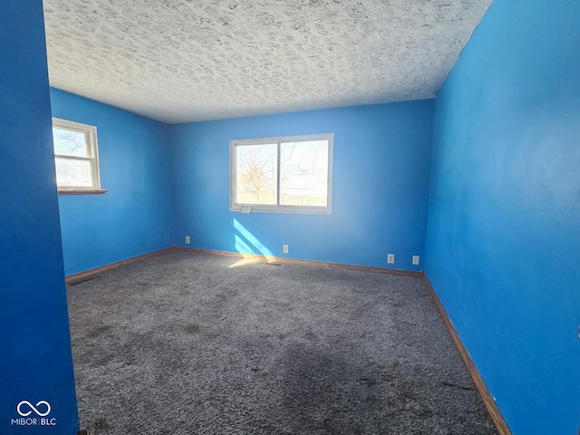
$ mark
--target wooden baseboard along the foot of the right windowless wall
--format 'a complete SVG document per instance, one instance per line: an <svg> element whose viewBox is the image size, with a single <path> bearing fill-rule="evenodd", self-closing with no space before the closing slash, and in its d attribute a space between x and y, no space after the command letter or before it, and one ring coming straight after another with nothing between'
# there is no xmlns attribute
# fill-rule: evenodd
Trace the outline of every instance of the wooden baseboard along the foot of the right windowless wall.
<svg viewBox="0 0 580 435"><path fill-rule="evenodd" d="M483 379L481 379L481 375L479 374L478 369L473 363L471 356L469 356L468 350L465 348L463 342L459 338L459 334L455 330L455 326L453 326L453 324L451 323L449 316L447 315L447 312L445 311L443 304L441 304L439 296L435 293L435 290L433 289L433 286L431 285L427 275L423 275L423 281L425 281L427 288L429 288L429 292L431 297L433 298L433 302L437 305L441 317L443 317L443 322L445 322L445 325L447 326L447 329L451 334L451 338L453 339L453 343L455 343L455 346L459 351L459 355L461 355L461 359L463 359L463 362L465 362L465 365L468 368L468 372L471 375L471 379L473 379L473 382L475 382L475 385L479 391L479 395L481 396L481 399L483 399L483 402L485 403L486 408L488 409L489 415L491 416L491 420L493 420L493 422L495 423L496 428L498 429L500 435L511 435L511 431L507 427L506 420L504 420L503 416L501 415L501 412L499 412L498 405L496 405L496 401L493 400L493 397L489 393L488 387L486 386L485 382L483 382Z"/></svg>

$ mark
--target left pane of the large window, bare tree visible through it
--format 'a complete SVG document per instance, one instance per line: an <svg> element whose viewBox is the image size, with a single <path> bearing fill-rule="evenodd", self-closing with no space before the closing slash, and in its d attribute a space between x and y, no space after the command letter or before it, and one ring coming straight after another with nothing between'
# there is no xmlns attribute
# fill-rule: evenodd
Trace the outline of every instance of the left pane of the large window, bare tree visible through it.
<svg viewBox="0 0 580 435"><path fill-rule="evenodd" d="M237 204L276 203L277 144L236 147Z"/></svg>

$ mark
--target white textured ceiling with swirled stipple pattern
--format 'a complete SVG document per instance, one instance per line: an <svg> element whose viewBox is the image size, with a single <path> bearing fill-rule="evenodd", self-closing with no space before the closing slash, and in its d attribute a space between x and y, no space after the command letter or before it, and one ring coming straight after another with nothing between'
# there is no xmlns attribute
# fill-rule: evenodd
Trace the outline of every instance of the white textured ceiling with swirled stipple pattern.
<svg viewBox="0 0 580 435"><path fill-rule="evenodd" d="M53 87L169 123L435 96L491 0L44 0Z"/></svg>

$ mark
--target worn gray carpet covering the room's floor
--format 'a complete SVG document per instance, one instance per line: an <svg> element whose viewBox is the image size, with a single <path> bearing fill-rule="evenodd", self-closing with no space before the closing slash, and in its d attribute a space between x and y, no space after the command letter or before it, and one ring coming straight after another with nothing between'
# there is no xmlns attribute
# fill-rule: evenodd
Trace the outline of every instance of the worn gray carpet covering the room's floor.
<svg viewBox="0 0 580 435"><path fill-rule="evenodd" d="M495 434L420 278L171 252L69 285L91 434Z"/></svg>

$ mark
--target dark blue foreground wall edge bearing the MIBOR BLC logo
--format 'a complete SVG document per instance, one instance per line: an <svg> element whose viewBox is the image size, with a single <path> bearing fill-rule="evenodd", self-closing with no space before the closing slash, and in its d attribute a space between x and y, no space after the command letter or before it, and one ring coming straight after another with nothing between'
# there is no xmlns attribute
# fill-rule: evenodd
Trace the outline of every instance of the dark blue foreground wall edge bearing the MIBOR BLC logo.
<svg viewBox="0 0 580 435"><path fill-rule="evenodd" d="M0 3L0 433L73 434L74 393L41 0ZM50 426L20 426L46 401ZM45 413L48 405L41 403ZM27 404L23 413L32 411ZM33 421L30 420L32 423Z"/></svg>

